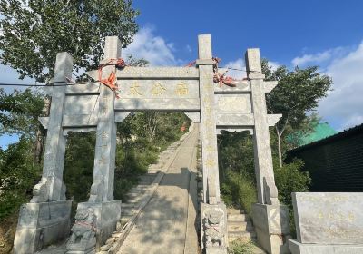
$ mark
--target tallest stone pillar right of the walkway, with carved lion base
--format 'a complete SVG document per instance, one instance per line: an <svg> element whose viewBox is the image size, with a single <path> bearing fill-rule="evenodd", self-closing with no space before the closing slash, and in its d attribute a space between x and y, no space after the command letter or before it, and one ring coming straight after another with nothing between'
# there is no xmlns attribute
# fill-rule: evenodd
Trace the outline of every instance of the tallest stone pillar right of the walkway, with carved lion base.
<svg viewBox="0 0 363 254"><path fill-rule="evenodd" d="M198 44L204 191L204 203L201 203L201 242L207 254L227 253L227 212L220 198L211 35L199 35Z"/></svg>

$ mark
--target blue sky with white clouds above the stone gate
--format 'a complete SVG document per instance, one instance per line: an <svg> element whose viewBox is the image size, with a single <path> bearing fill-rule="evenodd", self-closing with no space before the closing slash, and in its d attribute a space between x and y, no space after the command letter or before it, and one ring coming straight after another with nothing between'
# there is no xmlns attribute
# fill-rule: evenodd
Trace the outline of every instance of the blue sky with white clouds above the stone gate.
<svg viewBox="0 0 363 254"><path fill-rule="evenodd" d="M221 64L243 68L245 50L259 47L272 66L316 64L333 78L334 91L318 108L333 128L363 122L363 1L134 0L133 6L141 11L140 31L124 54L183 65L197 58L197 35L211 34ZM0 65L0 73L0 82L19 82L8 67ZM0 146L15 140L0 137Z"/></svg>

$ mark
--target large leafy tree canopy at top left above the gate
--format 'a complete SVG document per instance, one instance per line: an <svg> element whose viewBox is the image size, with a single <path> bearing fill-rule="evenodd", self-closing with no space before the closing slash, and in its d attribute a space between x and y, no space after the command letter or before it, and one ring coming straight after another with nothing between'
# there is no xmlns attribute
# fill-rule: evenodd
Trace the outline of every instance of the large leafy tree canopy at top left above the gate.
<svg viewBox="0 0 363 254"><path fill-rule="evenodd" d="M73 54L76 71L97 67L103 38L130 44L139 14L132 0L5 0L0 12L1 63L38 82L53 76L58 52Z"/></svg>

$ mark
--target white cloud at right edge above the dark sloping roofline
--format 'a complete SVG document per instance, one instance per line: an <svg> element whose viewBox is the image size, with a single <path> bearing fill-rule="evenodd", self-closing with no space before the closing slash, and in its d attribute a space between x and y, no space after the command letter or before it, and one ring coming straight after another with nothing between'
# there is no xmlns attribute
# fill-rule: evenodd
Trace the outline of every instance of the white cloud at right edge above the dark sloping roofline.
<svg viewBox="0 0 363 254"><path fill-rule="evenodd" d="M345 56L331 59L326 73L333 79L333 91L319 103L325 120L346 129L363 122L363 42Z"/></svg>

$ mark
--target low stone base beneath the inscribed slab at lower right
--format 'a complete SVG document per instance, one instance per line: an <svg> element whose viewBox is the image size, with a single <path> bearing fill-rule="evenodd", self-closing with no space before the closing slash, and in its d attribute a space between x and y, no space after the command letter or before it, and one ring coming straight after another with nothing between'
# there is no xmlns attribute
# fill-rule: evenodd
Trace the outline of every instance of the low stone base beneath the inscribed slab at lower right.
<svg viewBox="0 0 363 254"><path fill-rule="evenodd" d="M289 240L292 254L361 254L363 244L313 244Z"/></svg>

